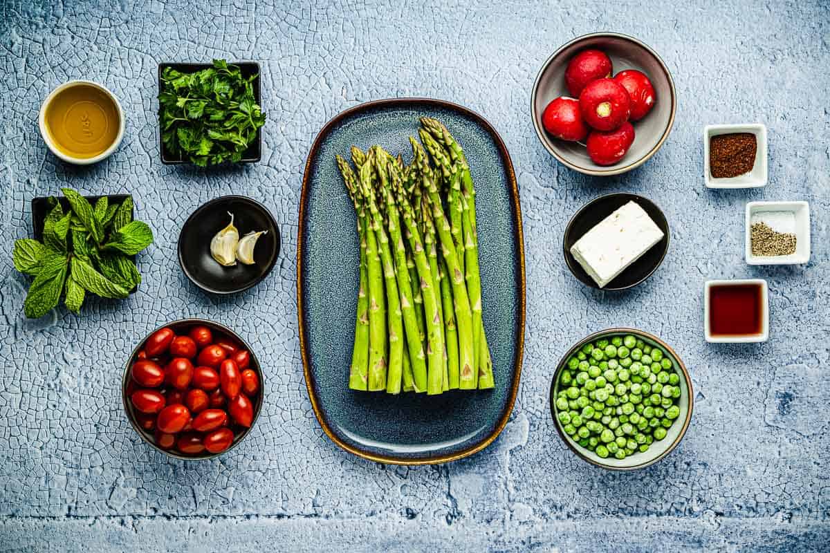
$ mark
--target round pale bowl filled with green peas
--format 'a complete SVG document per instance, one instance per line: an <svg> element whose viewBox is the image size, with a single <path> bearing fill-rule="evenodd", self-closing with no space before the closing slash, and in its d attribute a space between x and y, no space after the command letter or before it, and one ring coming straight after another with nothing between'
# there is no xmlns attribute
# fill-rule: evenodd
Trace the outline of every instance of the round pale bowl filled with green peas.
<svg viewBox="0 0 830 553"><path fill-rule="evenodd" d="M666 342L634 328L608 328L583 338L559 362L550 411L579 457L636 470L680 443L692 394L689 371Z"/></svg>

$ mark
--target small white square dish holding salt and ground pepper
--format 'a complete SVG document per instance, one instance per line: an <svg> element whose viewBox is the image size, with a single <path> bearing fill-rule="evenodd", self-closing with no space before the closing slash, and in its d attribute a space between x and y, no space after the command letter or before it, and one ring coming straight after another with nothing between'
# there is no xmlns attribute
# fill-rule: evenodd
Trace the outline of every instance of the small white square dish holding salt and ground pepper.
<svg viewBox="0 0 830 553"><path fill-rule="evenodd" d="M804 264L810 260L810 206L806 201L746 204L746 262Z"/></svg>

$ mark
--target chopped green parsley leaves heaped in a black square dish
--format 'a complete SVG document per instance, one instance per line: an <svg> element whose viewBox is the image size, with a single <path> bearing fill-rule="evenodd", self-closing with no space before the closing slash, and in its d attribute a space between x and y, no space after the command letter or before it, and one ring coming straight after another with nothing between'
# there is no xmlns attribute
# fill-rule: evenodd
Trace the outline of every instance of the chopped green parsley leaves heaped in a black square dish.
<svg viewBox="0 0 830 553"><path fill-rule="evenodd" d="M195 73L165 67L159 118L168 152L201 167L242 159L265 124L251 85L256 77L225 60Z"/></svg>

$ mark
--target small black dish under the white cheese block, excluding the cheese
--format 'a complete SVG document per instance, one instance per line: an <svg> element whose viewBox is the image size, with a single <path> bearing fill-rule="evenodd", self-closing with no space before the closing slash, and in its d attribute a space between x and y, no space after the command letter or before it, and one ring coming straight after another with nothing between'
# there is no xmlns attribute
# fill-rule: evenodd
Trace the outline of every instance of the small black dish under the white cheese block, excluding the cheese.
<svg viewBox="0 0 830 553"><path fill-rule="evenodd" d="M562 240L562 250L565 256L565 263L568 264L568 269L579 279L582 284L590 286L591 288L599 289L599 286L594 280L585 272L582 265L579 264L570 253L571 246L583 237L583 235L596 226L605 217L617 211L620 207L627 204L629 201L635 201L646 211L652 221L663 231L663 239L652 245L652 247L628 265L627 269L618 274L615 279L603 286L603 290L625 290L637 286L645 279L652 276L652 273L657 270L657 267L666 257L666 251L669 249L669 224L666 221L666 216L660 211L657 205L647 198L637 196L637 194L629 194L627 192L615 192L613 194L606 194L598 198L588 201L587 204L579 208L579 211L571 217L568 226L565 227L565 235Z"/></svg>

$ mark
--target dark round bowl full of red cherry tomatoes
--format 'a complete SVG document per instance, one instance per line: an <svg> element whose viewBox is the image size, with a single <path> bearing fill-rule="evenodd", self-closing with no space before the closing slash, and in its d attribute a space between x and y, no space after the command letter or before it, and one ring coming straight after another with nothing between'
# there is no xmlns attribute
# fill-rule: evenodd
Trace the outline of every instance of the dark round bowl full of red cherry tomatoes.
<svg viewBox="0 0 830 553"><path fill-rule="evenodd" d="M263 379L242 337L191 318L144 338L129 357L121 388L141 438L189 460L215 457L245 439L259 417Z"/></svg>

